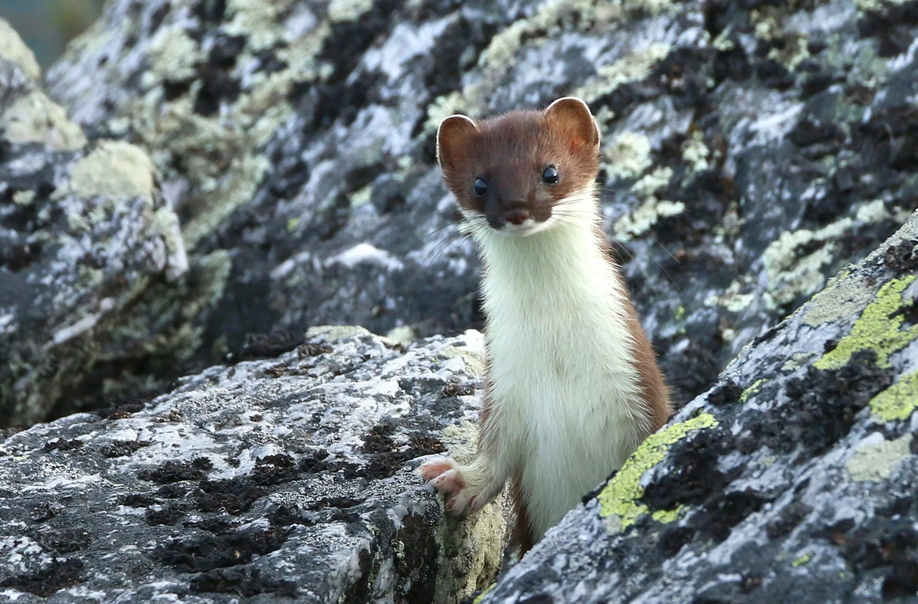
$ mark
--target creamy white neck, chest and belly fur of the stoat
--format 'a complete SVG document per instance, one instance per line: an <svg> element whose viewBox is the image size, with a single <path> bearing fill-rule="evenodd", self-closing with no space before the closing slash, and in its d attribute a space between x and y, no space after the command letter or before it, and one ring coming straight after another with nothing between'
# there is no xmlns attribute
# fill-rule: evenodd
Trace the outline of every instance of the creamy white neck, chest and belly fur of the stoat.
<svg viewBox="0 0 918 604"><path fill-rule="evenodd" d="M646 434L624 293L588 223L477 238L493 421L541 537Z"/></svg>

